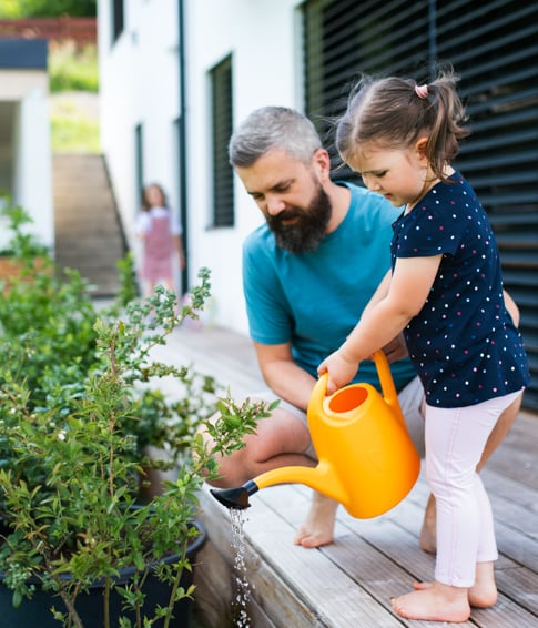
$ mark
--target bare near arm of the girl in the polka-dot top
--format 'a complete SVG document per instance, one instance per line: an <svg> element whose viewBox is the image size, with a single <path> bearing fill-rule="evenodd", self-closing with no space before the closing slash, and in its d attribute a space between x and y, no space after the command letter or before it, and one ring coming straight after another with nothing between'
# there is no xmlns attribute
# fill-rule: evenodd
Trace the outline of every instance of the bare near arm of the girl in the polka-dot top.
<svg viewBox="0 0 538 628"><path fill-rule="evenodd" d="M361 321L344 344L322 362L317 372L328 372L327 395L347 384L358 364L385 346L424 306L439 269L441 255L398 257L386 295L379 288L368 303ZM382 285L385 280L382 282Z"/></svg>

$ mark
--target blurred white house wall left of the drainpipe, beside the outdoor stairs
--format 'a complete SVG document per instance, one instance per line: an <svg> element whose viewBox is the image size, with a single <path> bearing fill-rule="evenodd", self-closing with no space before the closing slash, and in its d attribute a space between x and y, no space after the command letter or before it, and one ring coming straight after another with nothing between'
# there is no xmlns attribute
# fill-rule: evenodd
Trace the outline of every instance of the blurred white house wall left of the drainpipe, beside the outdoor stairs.
<svg viewBox="0 0 538 628"><path fill-rule="evenodd" d="M100 0L101 140L119 211L133 240L138 203L134 129L143 126L144 181L159 182L177 207L177 2L129 0L125 28L112 45L110 0Z"/></svg>

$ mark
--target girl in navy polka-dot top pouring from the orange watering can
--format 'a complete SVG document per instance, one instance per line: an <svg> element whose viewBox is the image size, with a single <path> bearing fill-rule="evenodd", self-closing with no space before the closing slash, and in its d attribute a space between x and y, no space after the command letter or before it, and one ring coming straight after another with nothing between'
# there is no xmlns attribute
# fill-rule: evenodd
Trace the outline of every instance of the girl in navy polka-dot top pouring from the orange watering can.
<svg viewBox="0 0 538 628"><path fill-rule="evenodd" d="M495 604L497 546L476 466L489 433L529 384L521 337L507 311L499 255L475 192L450 166L465 112L456 77L429 84L363 78L338 122L342 159L403 206L392 271L346 342L318 367L327 393L404 332L426 395L426 473L437 503L435 580L394 598L402 617L466 621Z"/></svg>

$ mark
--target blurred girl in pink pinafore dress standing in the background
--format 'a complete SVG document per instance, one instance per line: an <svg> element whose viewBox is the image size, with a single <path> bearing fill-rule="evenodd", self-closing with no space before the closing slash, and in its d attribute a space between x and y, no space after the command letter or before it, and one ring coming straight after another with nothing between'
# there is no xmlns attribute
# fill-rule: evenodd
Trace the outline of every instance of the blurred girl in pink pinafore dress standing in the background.
<svg viewBox="0 0 538 628"><path fill-rule="evenodd" d="M142 212L135 232L143 241L140 276L145 284L144 295L151 295L160 281L166 290L177 294L172 261L176 255L180 267L185 267L181 229L172 220L163 189L155 183L142 191Z"/></svg>

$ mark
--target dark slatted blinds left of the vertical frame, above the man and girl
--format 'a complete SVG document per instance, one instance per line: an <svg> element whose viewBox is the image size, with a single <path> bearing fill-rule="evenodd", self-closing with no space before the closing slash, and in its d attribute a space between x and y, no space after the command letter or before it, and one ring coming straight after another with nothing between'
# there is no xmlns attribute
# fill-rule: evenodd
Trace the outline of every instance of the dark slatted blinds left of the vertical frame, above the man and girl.
<svg viewBox="0 0 538 628"><path fill-rule="evenodd" d="M427 77L428 11L425 2L312 0L304 8L305 112L316 124L333 166L331 120L346 107L359 72L413 72ZM338 170L338 179L357 178Z"/></svg>

